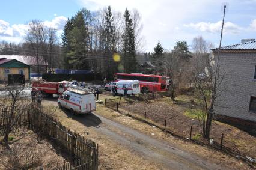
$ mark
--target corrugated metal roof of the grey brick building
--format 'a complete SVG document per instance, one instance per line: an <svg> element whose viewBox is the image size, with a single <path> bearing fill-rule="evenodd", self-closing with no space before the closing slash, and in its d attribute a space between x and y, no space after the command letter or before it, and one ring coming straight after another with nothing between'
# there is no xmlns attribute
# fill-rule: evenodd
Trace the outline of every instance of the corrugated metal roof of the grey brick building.
<svg viewBox="0 0 256 170"><path fill-rule="evenodd" d="M218 48L212 50L218 50ZM231 46L223 46L221 47L221 50L256 50L256 41L249 41Z"/></svg>

